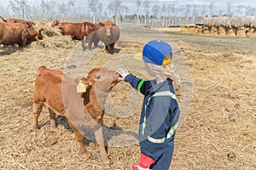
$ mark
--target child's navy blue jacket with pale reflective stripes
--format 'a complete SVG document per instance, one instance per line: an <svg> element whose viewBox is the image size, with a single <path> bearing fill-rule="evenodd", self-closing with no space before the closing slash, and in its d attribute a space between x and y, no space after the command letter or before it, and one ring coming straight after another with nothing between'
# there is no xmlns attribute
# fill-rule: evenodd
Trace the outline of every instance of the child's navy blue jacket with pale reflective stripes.
<svg viewBox="0 0 256 170"><path fill-rule="evenodd" d="M172 80L156 84L155 80L145 81L132 74L125 82L144 95L140 118L139 139L141 152L154 161L162 155L164 147L173 143L179 119L179 107L172 86Z"/></svg>

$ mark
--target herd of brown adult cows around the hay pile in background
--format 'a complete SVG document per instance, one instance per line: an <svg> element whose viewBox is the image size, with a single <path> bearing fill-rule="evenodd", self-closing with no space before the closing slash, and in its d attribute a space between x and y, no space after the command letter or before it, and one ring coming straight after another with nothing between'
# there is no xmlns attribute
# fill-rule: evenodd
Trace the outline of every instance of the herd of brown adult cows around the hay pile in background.
<svg viewBox="0 0 256 170"><path fill-rule="evenodd" d="M28 20L20 19L3 19L0 22L0 44L13 45L18 44L19 47L25 48L27 44L35 40L42 40L41 30L36 31L35 23ZM97 47L98 42L102 41L105 44L105 50L113 54L114 43L119 40L119 26L108 20L100 23L71 23L59 22L54 20L51 24L53 27L61 29L61 34L72 37L73 40L82 42L83 50L85 43L88 43L88 48L91 48L92 43Z"/></svg>

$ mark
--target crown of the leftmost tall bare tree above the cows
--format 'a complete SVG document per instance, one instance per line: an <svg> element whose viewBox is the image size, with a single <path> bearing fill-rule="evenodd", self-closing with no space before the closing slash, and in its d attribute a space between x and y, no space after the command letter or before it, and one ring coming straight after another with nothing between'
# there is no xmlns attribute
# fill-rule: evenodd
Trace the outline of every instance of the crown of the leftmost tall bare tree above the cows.
<svg viewBox="0 0 256 170"><path fill-rule="evenodd" d="M31 7L26 0L13 0L9 2L9 8L18 17L26 20L26 15L31 13Z"/></svg>

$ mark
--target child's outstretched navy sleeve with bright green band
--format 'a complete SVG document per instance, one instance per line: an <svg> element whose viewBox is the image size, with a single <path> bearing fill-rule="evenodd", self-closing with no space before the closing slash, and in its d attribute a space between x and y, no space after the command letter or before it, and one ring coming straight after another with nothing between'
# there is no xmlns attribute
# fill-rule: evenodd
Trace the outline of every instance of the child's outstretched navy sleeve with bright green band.
<svg viewBox="0 0 256 170"><path fill-rule="evenodd" d="M129 74L125 77L125 82L130 82L131 87L135 88L138 92L145 95L147 89L150 87L151 82L145 81L141 78L135 77L132 74Z"/></svg>

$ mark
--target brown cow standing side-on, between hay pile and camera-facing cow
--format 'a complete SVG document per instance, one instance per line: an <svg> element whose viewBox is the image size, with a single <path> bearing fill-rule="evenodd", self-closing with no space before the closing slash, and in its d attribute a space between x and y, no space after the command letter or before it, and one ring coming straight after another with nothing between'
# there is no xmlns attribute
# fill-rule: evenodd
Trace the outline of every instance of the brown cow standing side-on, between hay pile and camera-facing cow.
<svg viewBox="0 0 256 170"><path fill-rule="evenodd" d="M60 26L62 35L71 36L73 40L81 41L83 50L85 49L84 37L87 37L97 29L96 25L91 22L71 23L54 20L51 26Z"/></svg>

